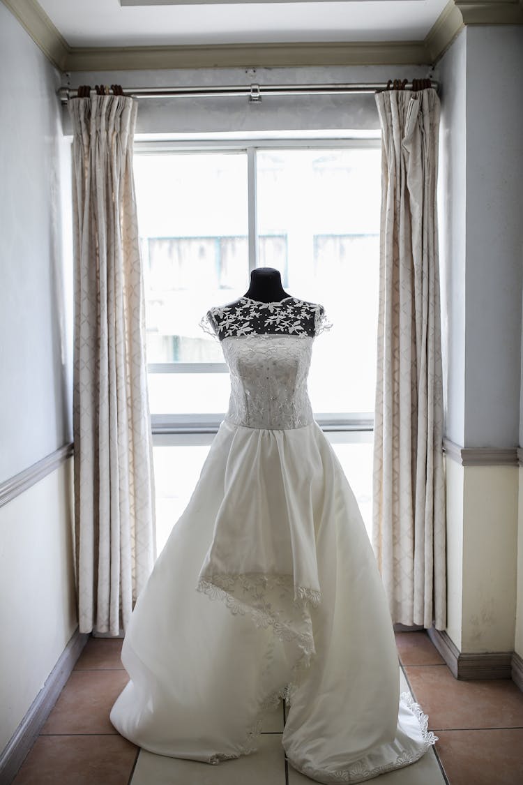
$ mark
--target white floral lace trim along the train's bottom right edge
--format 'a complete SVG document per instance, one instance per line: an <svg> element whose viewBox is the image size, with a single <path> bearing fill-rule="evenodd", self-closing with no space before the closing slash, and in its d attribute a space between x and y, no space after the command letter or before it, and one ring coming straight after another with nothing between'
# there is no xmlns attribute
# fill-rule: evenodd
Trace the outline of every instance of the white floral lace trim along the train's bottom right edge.
<svg viewBox="0 0 523 785"><path fill-rule="evenodd" d="M314 769L314 766L311 765L299 765L289 757L292 767L306 776L311 777L312 780L318 780L318 782L321 783L361 783L365 780L371 780L373 777L377 777L380 774L394 771L394 769L402 769L404 766L416 763L416 761L419 761L419 758L422 758L427 750L438 741L438 736L435 736L432 731L428 730L428 715L423 713L423 709L419 706L419 703L416 703L409 692L401 693L400 703L403 703L404 706L411 710L418 721L419 730L423 736L422 746L419 747L418 750L412 752L403 750L395 761L383 764L382 766L374 766L372 769L369 769L365 762L366 758L362 758L361 761L356 761L348 769L340 769L340 771L337 772L326 772L325 770Z"/></svg>

